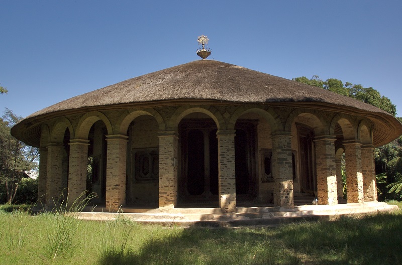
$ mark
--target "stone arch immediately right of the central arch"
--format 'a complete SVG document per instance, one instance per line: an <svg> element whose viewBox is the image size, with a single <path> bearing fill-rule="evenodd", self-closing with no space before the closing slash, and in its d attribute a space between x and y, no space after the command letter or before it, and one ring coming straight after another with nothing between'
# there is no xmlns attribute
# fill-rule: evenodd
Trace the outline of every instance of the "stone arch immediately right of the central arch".
<svg viewBox="0 0 402 265"><path fill-rule="evenodd" d="M282 127L279 116L273 109L269 108L268 110L264 110L256 106L241 106L237 108L231 116L228 123L228 129L234 129L237 119L243 114L251 112L257 113L261 115L261 117L265 118L268 121L269 125L272 127L272 131L278 130Z"/></svg>

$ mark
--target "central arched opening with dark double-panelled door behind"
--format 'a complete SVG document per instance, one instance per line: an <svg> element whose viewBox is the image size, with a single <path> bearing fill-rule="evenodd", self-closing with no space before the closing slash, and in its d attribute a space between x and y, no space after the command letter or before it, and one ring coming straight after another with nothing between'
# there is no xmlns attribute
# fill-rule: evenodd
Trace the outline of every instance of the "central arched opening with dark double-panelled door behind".
<svg viewBox="0 0 402 265"><path fill-rule="evenodd" d="M217 129L215 121L200 112L179 122L178 203L204 202L218 207Z"/></svg>

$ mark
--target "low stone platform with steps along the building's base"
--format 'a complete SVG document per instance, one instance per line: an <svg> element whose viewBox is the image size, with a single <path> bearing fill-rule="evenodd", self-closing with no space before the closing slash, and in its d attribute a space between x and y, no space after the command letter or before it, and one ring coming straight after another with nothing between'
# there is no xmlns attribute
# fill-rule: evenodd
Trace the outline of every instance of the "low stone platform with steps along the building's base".
<svg viewBox="0 0 402 265"><path fill-rule="evenodd" d="M147 224L178 226L255 226L278 225L297 221L331 220L343 215L377 213L397 209L396 205L384 202L364 202L329 205L302 205L292 209L281 207L238 207L233 214L223 214L220 208L175 208L169 212L147 208L121 208L119 213L110 213L102 207L87 207L78 215L83 220L115 220L123 217Z"/></svg>

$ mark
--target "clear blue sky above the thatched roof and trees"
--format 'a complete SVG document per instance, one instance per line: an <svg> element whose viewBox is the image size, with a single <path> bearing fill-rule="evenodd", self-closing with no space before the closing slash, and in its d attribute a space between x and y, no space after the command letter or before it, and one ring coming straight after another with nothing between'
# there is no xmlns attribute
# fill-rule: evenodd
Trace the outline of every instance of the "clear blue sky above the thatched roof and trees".
<svg viewBox="0 0 402 265"><path fill-rule="evenodd" d="M402 1L0 0L0 113L208 59L373 87L402 116Z"/></svg>

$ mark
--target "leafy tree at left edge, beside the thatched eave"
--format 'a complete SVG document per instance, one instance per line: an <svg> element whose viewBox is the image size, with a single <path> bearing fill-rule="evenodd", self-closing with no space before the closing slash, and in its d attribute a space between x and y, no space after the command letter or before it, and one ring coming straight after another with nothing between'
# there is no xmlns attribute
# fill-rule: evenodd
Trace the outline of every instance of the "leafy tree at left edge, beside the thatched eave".
<svg viewBox="0 0 402 265"><path fill-rule="evenodd" d="M10 134L11 127L21 118L7 108L0 118L0 185L6 187L8 203L13 203L26 173L38 169L39 150Z"/></svg>

